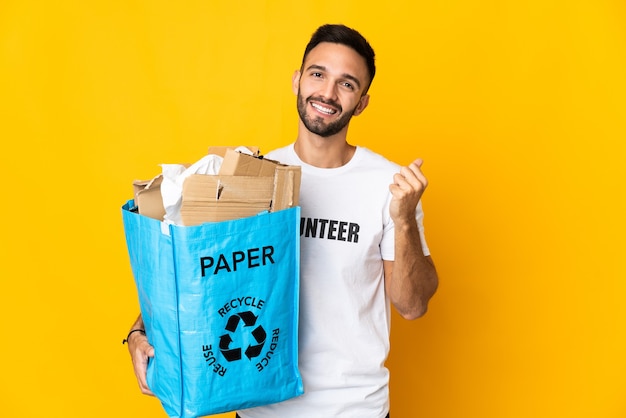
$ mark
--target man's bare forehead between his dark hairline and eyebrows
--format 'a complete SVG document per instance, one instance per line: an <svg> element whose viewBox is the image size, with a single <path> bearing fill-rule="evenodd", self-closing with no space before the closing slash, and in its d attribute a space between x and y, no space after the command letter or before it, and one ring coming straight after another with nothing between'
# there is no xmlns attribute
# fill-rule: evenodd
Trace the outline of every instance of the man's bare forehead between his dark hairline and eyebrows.
<svg viewBox="0 0 626 418"><path fill-rule="evenodd" d="M336 43L322 42L313 48L304 60L303 70L312 65L324 67L328 72L349 74L365 83L368 79L365 58L354 49Z"/></svg>

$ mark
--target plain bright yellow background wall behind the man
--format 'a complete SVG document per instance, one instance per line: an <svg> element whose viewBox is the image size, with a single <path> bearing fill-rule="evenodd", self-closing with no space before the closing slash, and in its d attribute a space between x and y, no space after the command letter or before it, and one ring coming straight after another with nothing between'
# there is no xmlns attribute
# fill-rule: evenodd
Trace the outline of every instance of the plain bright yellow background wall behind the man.
<svg viewBox="0 0 626 418"><path fill-rule="evenodd" d="M0 415L163 416L120 344L120 206L160 163L291 142L326 22L378 55L352 142L431 181L441 286L394 318L392 416L626 417L621 0L4 0Z"/></svg>

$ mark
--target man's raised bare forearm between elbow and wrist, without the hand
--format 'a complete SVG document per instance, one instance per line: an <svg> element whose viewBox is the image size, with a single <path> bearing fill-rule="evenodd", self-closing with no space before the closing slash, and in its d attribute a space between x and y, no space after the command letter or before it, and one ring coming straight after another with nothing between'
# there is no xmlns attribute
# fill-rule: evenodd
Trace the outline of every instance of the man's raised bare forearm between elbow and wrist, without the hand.
<svg viewBox="0 0 626 418"><path fill-rule="evenodd" d="M435 294L438 277L432 259L424 255L416 221L395 227L395 260L387 279L387 292L406 319L424 315Z"/></svg>

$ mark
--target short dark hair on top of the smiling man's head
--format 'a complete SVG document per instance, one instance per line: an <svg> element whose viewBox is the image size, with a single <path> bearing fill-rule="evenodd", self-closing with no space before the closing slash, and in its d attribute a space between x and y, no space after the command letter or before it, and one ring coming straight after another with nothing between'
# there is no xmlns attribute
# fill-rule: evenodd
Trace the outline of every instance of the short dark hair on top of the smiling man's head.
<svg viewBox="0 0 626 418"><path fill-rule="evenodd" d="M372 49L369 42L367 42L367 39L365 39L363 35L356 30L345 25L322 25L313 33L311 40L304 49L304 55L302 56L303 66L309 52L322 42L345 45L354 49L360 56L363 57L363 59L365 59L367 70L370 75L370 82L365 89L365 91L367 91L374 80L374 75L376 75L374 49Z"/></svg>

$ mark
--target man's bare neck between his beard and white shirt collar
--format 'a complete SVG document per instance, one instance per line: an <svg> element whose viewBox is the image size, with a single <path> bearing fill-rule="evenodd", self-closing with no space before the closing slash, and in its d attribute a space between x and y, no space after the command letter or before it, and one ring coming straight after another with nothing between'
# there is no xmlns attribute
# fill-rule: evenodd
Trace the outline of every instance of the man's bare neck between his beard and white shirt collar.
<svg viewBox="0 0 626 418"><path fill-rule="evenodd" d="M318 168L337 168L346 165L354 156L356 147L346 140L347 129L336 135L321 137L300 128L294 149L305 163Z"/></svg>

